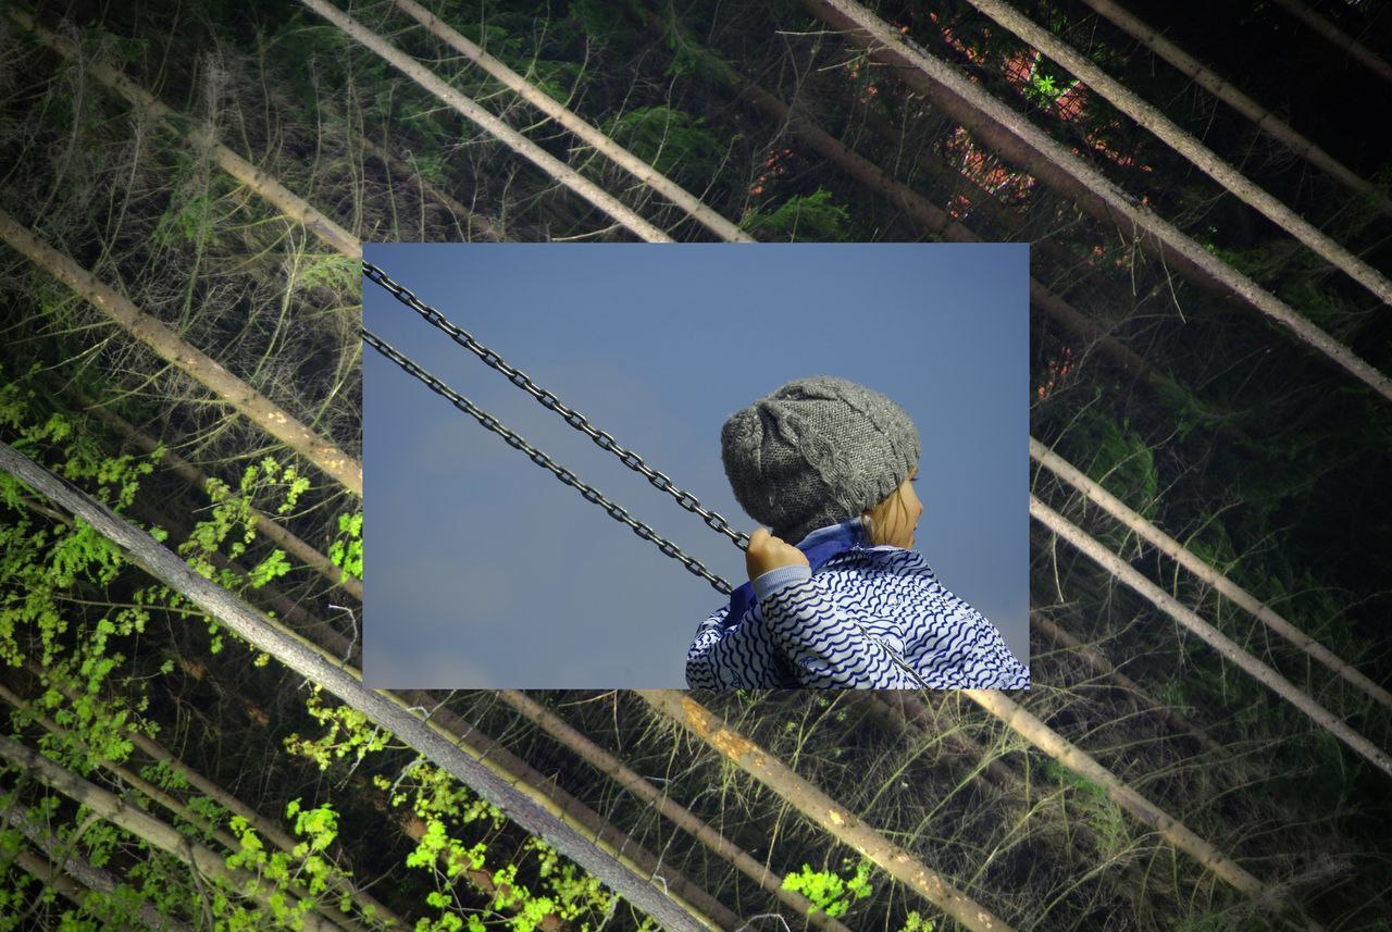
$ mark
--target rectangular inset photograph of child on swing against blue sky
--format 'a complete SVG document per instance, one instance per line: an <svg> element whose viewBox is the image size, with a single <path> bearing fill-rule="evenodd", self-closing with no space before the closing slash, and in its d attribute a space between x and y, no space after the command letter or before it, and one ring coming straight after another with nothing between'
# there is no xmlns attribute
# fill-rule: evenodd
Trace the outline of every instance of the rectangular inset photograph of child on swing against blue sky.
<svg viewBox="0 0 1392 932"><path fill-rule="evenodd" d="M365 259L369 686L1029 686L1026 245Z"/></svg>

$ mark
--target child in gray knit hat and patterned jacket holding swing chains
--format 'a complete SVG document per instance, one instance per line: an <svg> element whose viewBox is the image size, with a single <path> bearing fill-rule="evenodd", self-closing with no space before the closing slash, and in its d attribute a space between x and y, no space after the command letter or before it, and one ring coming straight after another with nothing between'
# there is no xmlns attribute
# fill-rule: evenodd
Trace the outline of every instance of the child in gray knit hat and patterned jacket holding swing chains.
<svg viewBox="0 0 1392 932"><path fill-rule="evenodd" d="M750 581L696 632L692 689L1029 687L999 632L910 549L919 453L909 415L844 378L731 415L725 474L773 533L750 536Z"/></svg>

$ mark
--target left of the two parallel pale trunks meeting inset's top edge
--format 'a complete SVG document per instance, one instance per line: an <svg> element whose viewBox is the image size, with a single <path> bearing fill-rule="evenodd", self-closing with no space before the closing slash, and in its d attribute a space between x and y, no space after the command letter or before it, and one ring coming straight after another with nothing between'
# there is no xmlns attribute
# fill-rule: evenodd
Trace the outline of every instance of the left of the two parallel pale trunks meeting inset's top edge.
<svg viewBox="0 0 1392 932"><path fill-rule="evenodd" d="M341 10L330 6L324 0L301 1L324 19L329 19L329 22L342 29L347 35L352 36L354 40L388 61L394 68L438 97L443 103L457 110L462 117L482 127L490 135L507 145L512 152L518 153L557 182L565 185L580 198L590 202L614 220L619 221L639 239L646 242L672 242L671 236L639 217L632 209L626 207L617 198L603 191L589 178L575 171L575 168L571 168L560 159L555 159L521 132L494 117L466 95L459 93L447 85L423 64L404 54L381 36L365 28Z"/></svg>

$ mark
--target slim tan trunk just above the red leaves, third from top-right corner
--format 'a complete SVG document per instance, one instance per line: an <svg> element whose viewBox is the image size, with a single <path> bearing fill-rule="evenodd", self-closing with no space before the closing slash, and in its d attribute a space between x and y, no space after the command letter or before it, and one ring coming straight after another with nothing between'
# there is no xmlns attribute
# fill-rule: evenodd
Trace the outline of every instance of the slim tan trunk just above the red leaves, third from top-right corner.
<svg viewBox="0 0 1392 932"><path fill-rule="evenodd" d="M1226 188L1233 196L1261 211L1264 217L1303 242L1325 262L1371 291L1384 305L1392 306L1392 281L1388 281L1384 274L1336 243L1332 238L1315 230L1314 225L1296 211L1272 198L1244 174L1219 159L1211 149L1175 125L1157 107L1141 100L1139 95L1132 93L1119 81L1111 78L1105 71L1075 51L1066 42L1050 31L1034 25L1027 17L1016 13L1001 0L967 0L967 3L1013 32L1023 42L1027 42L1068 68L1083 83L1154 134L1171 149Z"/></svg>

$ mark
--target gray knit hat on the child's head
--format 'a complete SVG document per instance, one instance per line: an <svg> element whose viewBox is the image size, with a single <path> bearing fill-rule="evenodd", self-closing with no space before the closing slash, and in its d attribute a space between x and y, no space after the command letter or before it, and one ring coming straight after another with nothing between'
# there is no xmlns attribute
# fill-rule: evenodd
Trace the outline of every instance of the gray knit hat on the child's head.
<svg viewBox="0 0 1392 932"><path fill-rule="evenodd" d="M908 412L831 376L796 378L736 410L720 440L735 498L789 544L883 502L922 451Z"/></svg>

